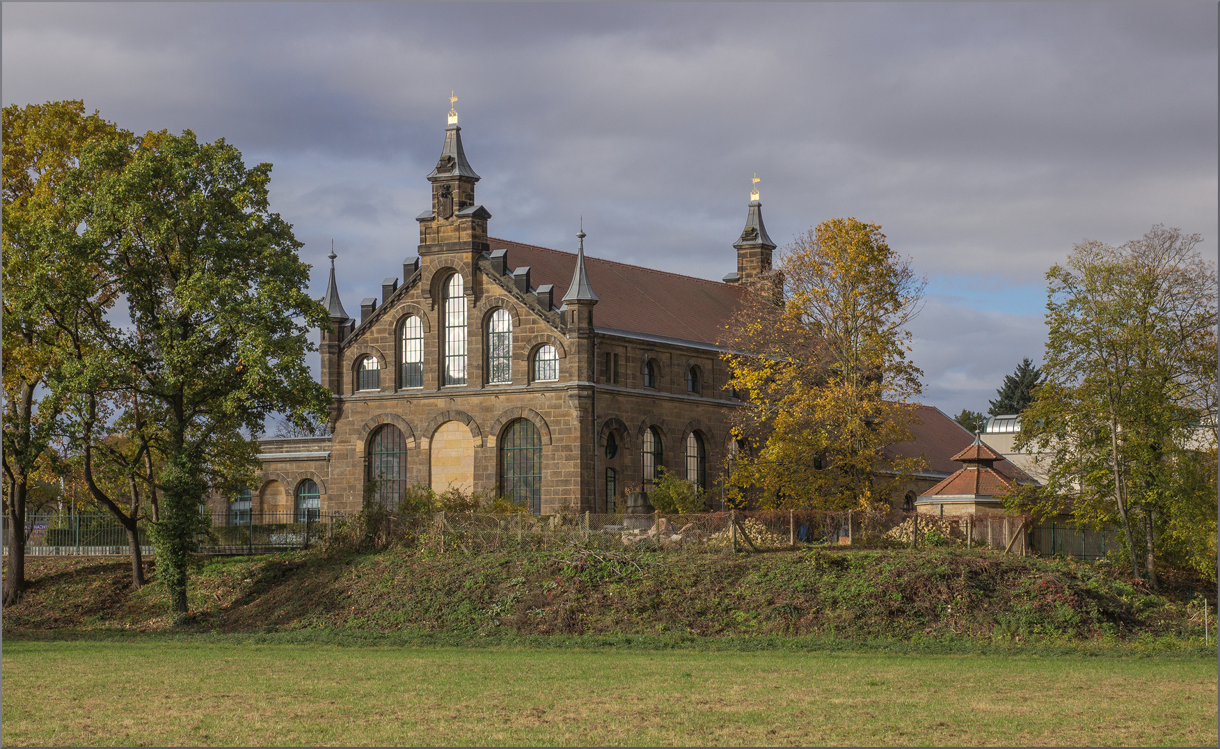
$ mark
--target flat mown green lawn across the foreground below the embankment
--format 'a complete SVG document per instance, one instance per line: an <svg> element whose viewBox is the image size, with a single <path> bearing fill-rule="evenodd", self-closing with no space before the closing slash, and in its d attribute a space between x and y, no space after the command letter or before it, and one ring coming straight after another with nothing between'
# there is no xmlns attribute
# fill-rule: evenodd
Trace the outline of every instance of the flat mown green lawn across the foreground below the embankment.
<svg viewBox="0 0 1220 749"><path fill-rule="evenodd" d="M10 640L4 742L1215 745L1216 664Z"/></svg>

